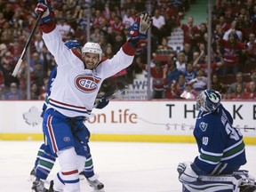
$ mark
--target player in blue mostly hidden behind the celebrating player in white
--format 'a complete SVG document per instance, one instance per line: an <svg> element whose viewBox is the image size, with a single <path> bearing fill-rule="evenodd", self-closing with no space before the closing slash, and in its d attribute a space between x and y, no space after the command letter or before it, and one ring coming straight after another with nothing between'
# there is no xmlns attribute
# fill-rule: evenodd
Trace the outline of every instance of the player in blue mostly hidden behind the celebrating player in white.
<svg viewBox="0 0 256 192"><path fill-rule="evenodd" d="M81 44L79 42L77 42L76 40L69 40L69 41L65 42L65 45L67 46L68 49L81 49L82 48ZM47 84L47 93L46 93L46 98L44 101L43 113L41 116L44 116L44 111L47 108L48 97L50 97L50 95L51 95L52 84L53 84L53 81L54 81L56 75L57 75L57 67L52 69L52 73L51 73L49 82ZM108 105L108 101L109 100L104 97L100 98L99 102L97 102L95 108L105 108ZM83 125L83 122L81 125ZM84 125L84 129L87 132L86 142L89 142L91 134L85 125ZM88 148L87 152L90 152L90 146L86 145L86 147ZM34 180L36 178L33 181L32 191L35 191L35 192L47 192L48 191L46 188L44 188L44 181L47 179L49 173L52 171L52 167L55 163L55 160L56 160L56 154L52 153L51 148L49 147L49 145L47 145L47 140L45 140L45 144L42 144L37 152L35 167L30 172L30 180ZM94 190L99 190L99 189L104 188L103 183L101 183L100 180L98 180L98 175L94 174L91 153L87 153L87 155L86 155L84 170L83 170L83 172L80 172L80 176L82 176L82 175L84 175L84 177L88 181L89 185ZM84 177L81 177L81 178L84 178ZM51 184L52 184L52 181L51 181Z"/></svg>

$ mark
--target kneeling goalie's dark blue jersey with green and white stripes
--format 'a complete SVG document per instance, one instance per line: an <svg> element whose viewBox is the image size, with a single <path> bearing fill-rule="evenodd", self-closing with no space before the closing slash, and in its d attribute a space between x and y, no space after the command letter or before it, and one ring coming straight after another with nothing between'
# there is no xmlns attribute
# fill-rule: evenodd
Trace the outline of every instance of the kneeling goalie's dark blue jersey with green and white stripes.
<svg viewBox="0 0 256 192"><path fill-rule="evenodd" d="M203 171L199 174L220 174L227 164L246 163L243 136L232 124L232 116L221 104L213 113L199 111L194 130L200 153L194 164Z"/></svg>

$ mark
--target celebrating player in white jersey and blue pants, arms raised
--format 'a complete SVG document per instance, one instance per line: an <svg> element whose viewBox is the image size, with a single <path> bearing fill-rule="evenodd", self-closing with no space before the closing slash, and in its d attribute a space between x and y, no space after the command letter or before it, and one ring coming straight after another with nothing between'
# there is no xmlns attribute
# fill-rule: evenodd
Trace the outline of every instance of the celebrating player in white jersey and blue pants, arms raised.
<svg viewBox="0 0 256 192"><path fill-rule="evenodd" d="M97 43L84 44L81 52L66 48L56 28L50 0L39 0L35 12L43 13L38 28L58 65L43 122L44 134L60 164L53 189L79 192L79 172L83 171L86 155L86 133L77 122L91 115L103 80L132 64L140 40L147 39L152 20L148 13L142 13L132 25L129 40L112 59L107 60L101 58L102 50Z"/></svg>

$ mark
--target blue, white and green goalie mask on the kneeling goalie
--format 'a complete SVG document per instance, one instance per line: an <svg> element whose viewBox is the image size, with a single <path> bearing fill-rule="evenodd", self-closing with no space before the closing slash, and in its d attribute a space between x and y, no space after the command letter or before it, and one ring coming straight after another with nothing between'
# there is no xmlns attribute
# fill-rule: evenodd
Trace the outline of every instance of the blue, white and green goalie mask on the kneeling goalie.
<svg viewBox="0 0 256 192"><path fill-rule="evenodd" d="M214 90L204 90L196 98L196 110L213 112L220 106L220 92Z"/></svg>

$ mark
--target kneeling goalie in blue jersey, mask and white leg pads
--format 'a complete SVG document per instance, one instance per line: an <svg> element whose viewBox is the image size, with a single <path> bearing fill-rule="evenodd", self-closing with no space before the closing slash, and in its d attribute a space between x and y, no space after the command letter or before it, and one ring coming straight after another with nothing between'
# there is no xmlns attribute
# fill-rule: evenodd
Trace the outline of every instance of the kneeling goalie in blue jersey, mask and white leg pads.
<svg viewBox="0 0 256 192"><path fill-rule="evenodd" d="M243 136L232 126L233 118L220 100L220 93L213 90L204 90L196 99L194 136L199 155L193 163L178 165L183 192L254 191L254 179L239 171L246 164ZM252 182L248 187L243 180Z"/></svg>

